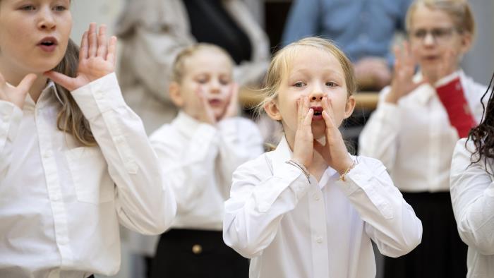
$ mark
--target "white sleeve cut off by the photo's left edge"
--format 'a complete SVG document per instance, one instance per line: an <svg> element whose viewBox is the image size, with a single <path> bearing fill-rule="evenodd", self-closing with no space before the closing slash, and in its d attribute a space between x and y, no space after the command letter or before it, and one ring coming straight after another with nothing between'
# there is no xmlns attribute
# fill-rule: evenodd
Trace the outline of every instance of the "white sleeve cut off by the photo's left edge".
<svg viewBox="0 0 494 278"><path fill-rule="evenodd" d="M13 140L22 116L23 112L15 104L0 100L0 179L11 163Z"/></svg>

